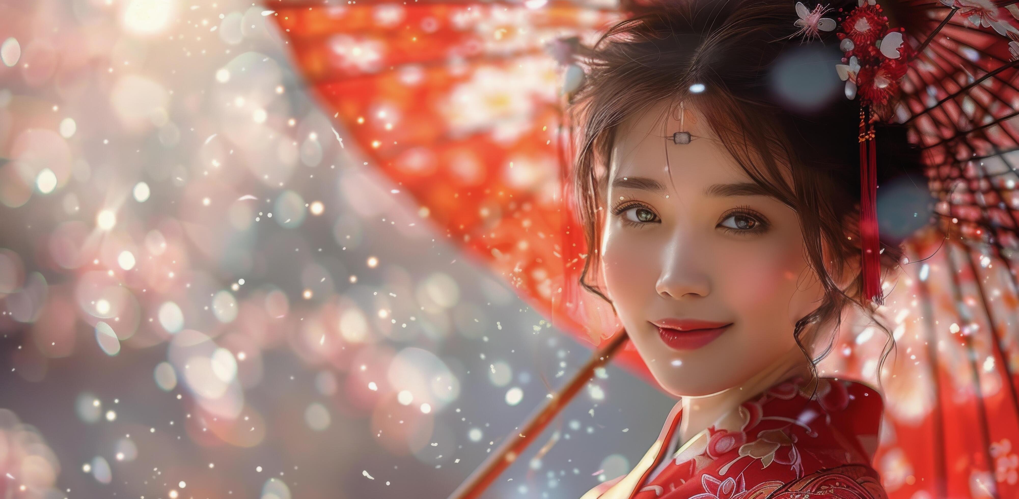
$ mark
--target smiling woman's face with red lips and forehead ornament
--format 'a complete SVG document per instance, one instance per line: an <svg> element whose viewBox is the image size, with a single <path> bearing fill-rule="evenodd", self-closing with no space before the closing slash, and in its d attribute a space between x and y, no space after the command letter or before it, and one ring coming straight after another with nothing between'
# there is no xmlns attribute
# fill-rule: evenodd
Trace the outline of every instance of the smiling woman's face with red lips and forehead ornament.
<svg viewBox="0 0 1019 499"><path fill-rule="evenodd" d="M679 110L660 118L665 106L618 130L601 272L662 387L703 396L791 354L805 362L793 329L820 304L822 288L796 212L763 193L689 106L683 128L693 140L675 144Z"/></svg>

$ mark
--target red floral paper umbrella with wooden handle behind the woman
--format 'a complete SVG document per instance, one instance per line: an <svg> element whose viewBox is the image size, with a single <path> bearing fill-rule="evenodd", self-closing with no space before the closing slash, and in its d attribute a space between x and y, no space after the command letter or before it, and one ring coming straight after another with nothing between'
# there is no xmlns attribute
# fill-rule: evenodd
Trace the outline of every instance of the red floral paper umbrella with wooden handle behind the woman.
<svg viewBox="0 0 1019 499"><path fill-rule="evenodd" d="M308 85L370 164L555 326L599 344L455 497L479 495L609 357L653 383L623 347L611 308L579 284L588 250L565 188L562 89L583 76L570 54L632 11L560 0L269 5ZM911 265L886 285L879 310L898 347L881 376L874 465L897 499L1019 497L1019 6L882 5L908 61L861 69L847 59L844 79L911 125L935 206L933 223L906 241ZM867 44L887 33L850 35ZM876 48L856 50L879 59ZM902 76L896 95L878 85L889 75ZM823 367L876 379L875 331L847 322Z"/></svg>

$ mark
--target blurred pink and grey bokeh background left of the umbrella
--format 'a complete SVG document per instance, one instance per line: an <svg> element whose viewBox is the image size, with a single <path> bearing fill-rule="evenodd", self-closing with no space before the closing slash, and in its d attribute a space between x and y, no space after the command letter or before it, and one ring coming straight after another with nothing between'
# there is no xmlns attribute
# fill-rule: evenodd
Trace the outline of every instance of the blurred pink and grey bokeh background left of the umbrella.
<svg viewBox="0 0 1019 499"><path fill-rule="evenodd" d="M445 497L590 354L371 170L240 0L0 0L0 496ZM487 497L675 400L615 367Z"/></svg>

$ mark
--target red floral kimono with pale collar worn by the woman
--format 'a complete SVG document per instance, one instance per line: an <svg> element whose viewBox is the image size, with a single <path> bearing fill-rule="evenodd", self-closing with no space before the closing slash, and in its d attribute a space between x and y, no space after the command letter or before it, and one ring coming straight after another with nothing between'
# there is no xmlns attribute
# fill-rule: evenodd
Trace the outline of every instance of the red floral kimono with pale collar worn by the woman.
<svg viewBox="0 0 1019 499"><path fill-rule="evenodd" d="M870 466L882 407L861 383L796 377L673 452L665 443L677 443L677 403L633 470L582 499L887 499Z"/></svg>

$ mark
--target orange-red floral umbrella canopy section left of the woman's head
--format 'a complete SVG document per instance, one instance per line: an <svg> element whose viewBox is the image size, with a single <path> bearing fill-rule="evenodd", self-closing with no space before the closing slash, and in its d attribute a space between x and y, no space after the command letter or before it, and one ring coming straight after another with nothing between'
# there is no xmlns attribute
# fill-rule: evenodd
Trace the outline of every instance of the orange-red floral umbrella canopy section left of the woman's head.
<svg viewBox="0 0 1019 499"><path fill-rule="evenodd" d="M422 217L560 329L595 344L615 331L611 307L578 283L587 254L564 196L554 55L569 50L559 39L593 43L621 12L569 1L286 5L272 18L308 85ZM616 358L652 380L636 350Z"/></svg>

